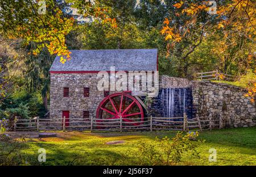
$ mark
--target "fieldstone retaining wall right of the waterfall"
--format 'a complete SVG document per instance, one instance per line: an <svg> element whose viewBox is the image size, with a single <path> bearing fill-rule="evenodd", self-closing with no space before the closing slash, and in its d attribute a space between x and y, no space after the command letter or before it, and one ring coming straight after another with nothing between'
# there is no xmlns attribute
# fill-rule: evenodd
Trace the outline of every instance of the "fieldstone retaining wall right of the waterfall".
<svg viewBox="0 0 256 177"><path fill-rule="evenodd" d="M224 127L253 127L256 123L255 103L250 102L246 89L214 83L192 81L193 106L200 116L221 115Z"/></svg>

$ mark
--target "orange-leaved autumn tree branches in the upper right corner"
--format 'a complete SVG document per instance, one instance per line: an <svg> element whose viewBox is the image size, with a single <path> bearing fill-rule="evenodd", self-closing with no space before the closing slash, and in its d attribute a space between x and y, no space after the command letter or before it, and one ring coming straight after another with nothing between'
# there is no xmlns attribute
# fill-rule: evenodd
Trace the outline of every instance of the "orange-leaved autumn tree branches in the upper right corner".
<svg viewBox="0 0 256 177"><path fill-rule="evenodd" d="M241 75L254 68L256 19L253 1L218 1L214 14L209 12L208 1L180 1L173 6L176 18L166 19L161 32L169 41L167 54L180 58L184 75L189 55L204 39L213 39L216 43L212 50L218 54L220 64L216 67L222 72ZM250 94L254 95L255 92Z"/></svg>

